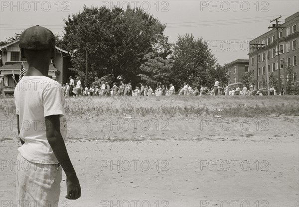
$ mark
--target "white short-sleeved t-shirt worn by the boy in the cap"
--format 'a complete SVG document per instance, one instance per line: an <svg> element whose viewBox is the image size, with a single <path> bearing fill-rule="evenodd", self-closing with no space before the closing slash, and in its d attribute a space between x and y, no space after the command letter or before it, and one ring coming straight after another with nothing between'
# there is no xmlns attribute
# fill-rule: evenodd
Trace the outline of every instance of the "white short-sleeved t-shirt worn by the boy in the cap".
<svg viewBox="0 0 299 207"><path fill-rule="evenodd" d="M14 90L19 137L25 142L18 148L30 162L57 164L46 137L45 116L60 115L60 133L65 139L67 122L61 85L45 76L24 76Z"/></svg>

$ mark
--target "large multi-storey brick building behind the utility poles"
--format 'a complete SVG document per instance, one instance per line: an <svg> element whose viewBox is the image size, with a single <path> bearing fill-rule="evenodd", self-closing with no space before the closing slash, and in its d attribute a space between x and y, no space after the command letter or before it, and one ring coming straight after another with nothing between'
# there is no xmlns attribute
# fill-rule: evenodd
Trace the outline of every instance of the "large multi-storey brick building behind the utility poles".
<svg viewBox="0 0 299 207"><path fill-rule="evenodd" d="M278 62L277 51L277 34L276 29L262 34L251 40L250 44L265 44L263 49L250 48L249 52L249 71L253 71L254 80L258 80L255 88L264 88L263 79L266 80L266 58L268 60L269 75L273 73L278 77L278 68L280 68L281 81L284 84L284 68L293 66L294 74L292 77L286 77L287 80L292 78L299 81L299 12L285 19L285 23L280 26L286 27L279 29L279 50L280 61Z"/></svg>

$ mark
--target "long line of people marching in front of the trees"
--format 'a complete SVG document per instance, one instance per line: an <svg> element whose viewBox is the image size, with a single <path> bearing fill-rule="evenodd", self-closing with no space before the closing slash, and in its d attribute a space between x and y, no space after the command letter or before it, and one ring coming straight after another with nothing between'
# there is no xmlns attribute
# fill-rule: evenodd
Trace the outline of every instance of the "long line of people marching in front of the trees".
<svg viewBox="0 0 299 207"><path fill-rule="evenodd" d="M150 86L141 84L140 87L133 89L131 83L124 84L121 81L120 85L117 86L116 83L112 87L108 82L102 82L100 86L91 86L90 88L82 88L81 81L79 78L76 79L76 86L73 77L70 77L70 83L62 85L62 91L65 97L72 96L171 96L175 94L175 89L172 84L169 85L169 89L166 86L157 86L151 88ZM276 95L274 87L270 90L271 95ZM223 87L219 86L219 82L215 79L215 84L213 88L207 88L205 86L200 86L200 89L197 87L192 88L189 84L184 83L184 85L178 90L178 95L187 95L187 96L250 96L253 95L253 85L250 85L249 90L245 85L243 85L242 90L237 86L236 88L229 88L228 85ZM263 94L258 90L255 95L263 96Z"/></svg>

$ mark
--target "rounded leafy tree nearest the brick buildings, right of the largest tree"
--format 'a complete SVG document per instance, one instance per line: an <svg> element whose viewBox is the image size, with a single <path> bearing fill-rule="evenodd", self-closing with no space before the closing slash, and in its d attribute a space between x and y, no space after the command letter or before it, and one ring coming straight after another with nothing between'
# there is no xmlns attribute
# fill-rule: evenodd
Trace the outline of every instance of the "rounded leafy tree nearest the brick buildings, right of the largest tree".
<svg viewBox="0 0 299 207"><path fill-rule="evenodd" d="M207 43L195 39L191 34L178 36L173 45L173 83L181 86L184 82L192 86L209 85L209 70L215 67L216 58Z"/></svg>

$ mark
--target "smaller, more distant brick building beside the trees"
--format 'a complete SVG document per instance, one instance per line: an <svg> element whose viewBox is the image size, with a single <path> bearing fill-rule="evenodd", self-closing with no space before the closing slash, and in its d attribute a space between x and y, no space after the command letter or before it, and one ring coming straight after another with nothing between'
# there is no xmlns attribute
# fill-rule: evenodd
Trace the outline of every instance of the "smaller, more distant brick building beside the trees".
<svg viewBox="0 0 299 207"><path fill-rule="evenodd" d="M242 87L241 83L242 75L249 72L249 60L237 59L228 64L229 70L227 71L229 75L228 85L230 88L236 88L237 86Z"/></svg>

